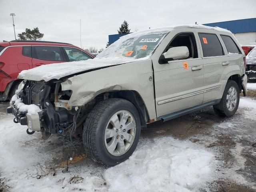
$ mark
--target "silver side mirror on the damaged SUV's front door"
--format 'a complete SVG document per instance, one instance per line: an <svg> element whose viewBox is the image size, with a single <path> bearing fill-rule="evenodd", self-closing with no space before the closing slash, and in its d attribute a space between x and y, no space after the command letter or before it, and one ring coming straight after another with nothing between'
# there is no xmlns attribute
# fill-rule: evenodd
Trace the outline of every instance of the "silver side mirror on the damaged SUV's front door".
<svg viewBox="0 0 256 192"><path fill-rule="evenodd" d="M163 53L164 58L166 59L185 59L189 56L189 51L186 46L180 46L180 47L172 47L165 53Z"/></svg>

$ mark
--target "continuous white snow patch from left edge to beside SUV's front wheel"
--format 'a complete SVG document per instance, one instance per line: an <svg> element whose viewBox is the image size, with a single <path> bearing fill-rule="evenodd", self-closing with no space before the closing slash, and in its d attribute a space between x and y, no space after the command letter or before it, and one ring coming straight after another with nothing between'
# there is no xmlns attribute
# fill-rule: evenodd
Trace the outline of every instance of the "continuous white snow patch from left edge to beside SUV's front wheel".
<svg viewBox="0 0 256 192"><path fill-rule="evenodd" d="M42 166L57 166L54 159L62 156L62 145L48 149L48 141L42 141L40 134L27 135L26 126L14 124L11 115L1 120L0 170L12 188L10 191L42 192L70 191L76 188L86 191L196 191L212 180L217 160L214 154L188 140L181 141L171 136L142 139L129 160L106 169L90 162L88 166L70 166L70 172L56 168L47 176L36 179ZM51 142L61 142L52 137ZM44 168L44 171L47 169ZM97 174L92 174L97 172ZM79 175L78 181L70 179ZM82 179L83 178L83 179ZM105 183L105 184L104 184ZM64 189L62 188L64 187Z"/></svg>

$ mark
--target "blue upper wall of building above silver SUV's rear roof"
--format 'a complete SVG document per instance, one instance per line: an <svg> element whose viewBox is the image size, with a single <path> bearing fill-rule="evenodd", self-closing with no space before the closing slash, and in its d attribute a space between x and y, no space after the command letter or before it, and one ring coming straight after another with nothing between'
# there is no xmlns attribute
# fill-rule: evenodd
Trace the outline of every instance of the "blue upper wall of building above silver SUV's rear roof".
<svg viewBox="0 0 256 192"><path fill-rule="evenodd" d="M230 30L232 33L256 32L256 18L207 23L203 25L210 27L221 27Z"/></svg>

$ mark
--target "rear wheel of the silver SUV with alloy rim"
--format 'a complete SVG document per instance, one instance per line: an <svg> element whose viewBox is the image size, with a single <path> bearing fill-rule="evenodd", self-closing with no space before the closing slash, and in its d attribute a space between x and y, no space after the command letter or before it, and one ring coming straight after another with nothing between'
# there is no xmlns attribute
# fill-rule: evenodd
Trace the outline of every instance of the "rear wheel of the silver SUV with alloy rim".
<svg viewBox="0 0 256 192"><path fill-rule="evenodd" d="M236 96L233 95L233 92L234 93L236 92ZM240 91L238 88L238 84L234 80L228 80L220 102L213 106L214 112L217 115L222 117L233 116L236 113L239 105L239 100L240 100L239 94L240 94Z"/></svg>

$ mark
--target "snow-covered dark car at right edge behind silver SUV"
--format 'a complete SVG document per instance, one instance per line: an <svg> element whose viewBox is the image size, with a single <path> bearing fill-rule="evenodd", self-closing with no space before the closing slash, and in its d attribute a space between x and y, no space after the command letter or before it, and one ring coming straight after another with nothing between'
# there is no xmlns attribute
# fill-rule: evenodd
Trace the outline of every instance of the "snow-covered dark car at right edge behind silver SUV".
<svg viewBox="0 0 256 192"><path fill-rule="evenodd" d="M256 78L256 47L246 56L246 74L248 78Z"/></svg>

